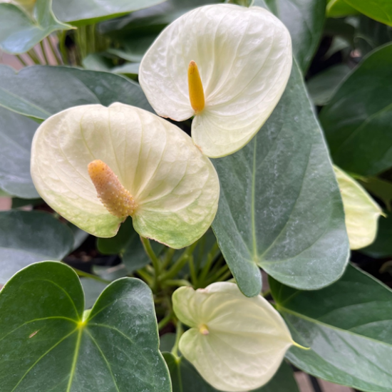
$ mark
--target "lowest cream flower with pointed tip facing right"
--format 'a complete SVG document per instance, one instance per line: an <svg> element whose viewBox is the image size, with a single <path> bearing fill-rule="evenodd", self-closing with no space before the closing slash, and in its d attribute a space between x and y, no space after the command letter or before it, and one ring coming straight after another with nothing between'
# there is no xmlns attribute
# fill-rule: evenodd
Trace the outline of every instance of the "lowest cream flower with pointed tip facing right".
<svg viewBox="0 0 392 392"><path fill-rule="evenodd" d="M293 344L282 316L261 295L248 298L237 284L180 287L173 296L178 319L191 328L180 351L220 391L249 391L267 383Z"/></svg>

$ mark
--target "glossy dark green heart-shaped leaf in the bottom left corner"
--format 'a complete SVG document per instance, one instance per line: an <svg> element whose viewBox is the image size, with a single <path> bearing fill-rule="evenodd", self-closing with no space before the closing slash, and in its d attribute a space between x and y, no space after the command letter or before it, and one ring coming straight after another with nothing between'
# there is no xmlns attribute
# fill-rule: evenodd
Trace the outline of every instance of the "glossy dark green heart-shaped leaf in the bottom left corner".
<svg viewBox="0 0 392 392"><path fill-rule="evenodd" d="M138 279L110 284L83 320L83 290L65 264L43 262L0 292L2 392L170 392L153 295Z"/></svg>

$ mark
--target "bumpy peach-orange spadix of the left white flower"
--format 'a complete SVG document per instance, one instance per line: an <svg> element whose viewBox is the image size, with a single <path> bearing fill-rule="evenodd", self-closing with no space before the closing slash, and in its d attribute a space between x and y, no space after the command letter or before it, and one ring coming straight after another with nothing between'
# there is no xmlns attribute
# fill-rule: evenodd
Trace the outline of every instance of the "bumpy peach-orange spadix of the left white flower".
<svg viewBox="0 0 392 392"><path fill-rule="evenodd" d="M88 164L88 175L96 187L100 201L110 214L119 218L134 214L135 200L106 163L93 160Z"/></svg>

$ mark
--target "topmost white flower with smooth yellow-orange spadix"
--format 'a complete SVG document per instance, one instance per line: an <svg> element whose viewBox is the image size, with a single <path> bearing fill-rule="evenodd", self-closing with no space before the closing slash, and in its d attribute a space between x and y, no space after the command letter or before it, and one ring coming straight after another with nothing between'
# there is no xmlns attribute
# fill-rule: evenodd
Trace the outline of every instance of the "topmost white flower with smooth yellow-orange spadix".
<svg viewBox="0 0 392 392"><path fill-rule="evenodd" d="M246 145L282 96L292 68L289 31L266 9L202 6L160 33L139 81L158 115L195 115L192 139L218 158Z"/></svg>

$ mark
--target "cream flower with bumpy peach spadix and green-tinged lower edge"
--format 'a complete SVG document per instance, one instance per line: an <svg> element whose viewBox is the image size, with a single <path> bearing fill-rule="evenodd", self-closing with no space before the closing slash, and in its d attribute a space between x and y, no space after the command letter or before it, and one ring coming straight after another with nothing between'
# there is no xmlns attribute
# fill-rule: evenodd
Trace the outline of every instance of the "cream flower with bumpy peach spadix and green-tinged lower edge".
<svg viewBox="0 0 392 392"><path fill-rule="evenodd" d="M113 237L128 215L135 230L173 248L210 227L219 180L180 128L122 103L83 105L36 131L31 175L48 205L96 237Z"/></svg>

